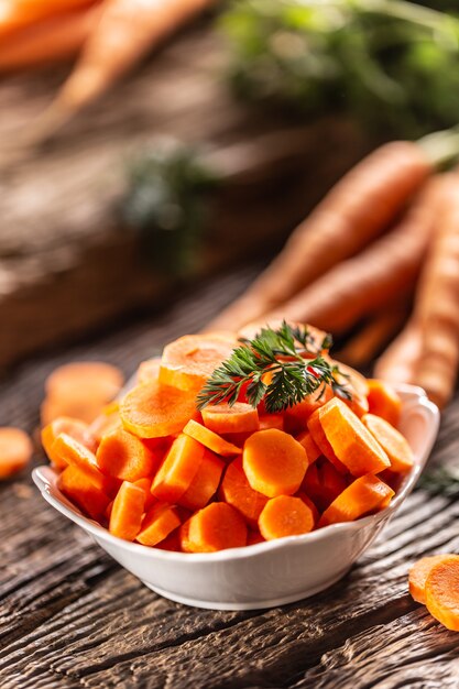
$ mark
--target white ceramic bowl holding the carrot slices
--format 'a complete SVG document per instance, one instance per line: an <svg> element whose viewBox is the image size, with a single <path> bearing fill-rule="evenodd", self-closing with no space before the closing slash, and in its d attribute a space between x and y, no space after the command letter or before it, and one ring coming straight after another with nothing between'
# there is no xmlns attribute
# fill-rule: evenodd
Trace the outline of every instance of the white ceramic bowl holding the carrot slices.
<svg viewBox="0 0 459 689"><path fill-rule="evenodd" d="M435 442L439 414L419 387L405 385L398 392L403 398L401 429L413 448L415 464L397 495L375 515L302 536L212 554L149 548L117 538L83 516L58 490L58 474L51 467L39 467L32 475L53 507L156 593L214 610L272 608L313 595L343 577L413 490Z"/></svg>

